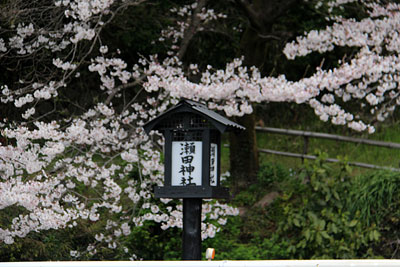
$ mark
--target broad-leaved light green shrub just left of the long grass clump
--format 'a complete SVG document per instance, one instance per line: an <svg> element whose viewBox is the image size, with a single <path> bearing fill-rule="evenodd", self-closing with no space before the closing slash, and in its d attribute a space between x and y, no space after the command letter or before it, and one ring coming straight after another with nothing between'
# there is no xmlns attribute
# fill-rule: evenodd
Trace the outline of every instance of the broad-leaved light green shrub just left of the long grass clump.
<svg viewBox="0 0 400 267"><path fill-rule="evenodd" d="M359 258L373 256L369 245L379 240L375 225L368 226L360 213L351 213L349 169L335 173L321 155L306 162L296 187L288 188L274 206L273 238L289 244L291 258Z"/></svg>

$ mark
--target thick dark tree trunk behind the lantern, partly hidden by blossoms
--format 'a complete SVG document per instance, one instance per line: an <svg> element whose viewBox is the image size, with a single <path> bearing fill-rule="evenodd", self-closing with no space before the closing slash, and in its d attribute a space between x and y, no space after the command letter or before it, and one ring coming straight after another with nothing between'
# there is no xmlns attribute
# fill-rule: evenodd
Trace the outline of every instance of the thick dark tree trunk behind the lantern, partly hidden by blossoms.
<svg viewBox="0 0 400 267"><path fill-rule="evenodd" d="M300 0L236 0L249 20L243 34L240 48L244 55L246 66L256 66L261 72L269 69L272 62L268 62L268 44L271 39L279 38L279 34L272 31L273 23L284 14L287 9L294 7ZM235 191L252 184L257 179L259 169L257 139L255 133L256 115L246 115L236 118L236 121L246 127L241 133L231 133L230 168L235 181Z"/></svg>

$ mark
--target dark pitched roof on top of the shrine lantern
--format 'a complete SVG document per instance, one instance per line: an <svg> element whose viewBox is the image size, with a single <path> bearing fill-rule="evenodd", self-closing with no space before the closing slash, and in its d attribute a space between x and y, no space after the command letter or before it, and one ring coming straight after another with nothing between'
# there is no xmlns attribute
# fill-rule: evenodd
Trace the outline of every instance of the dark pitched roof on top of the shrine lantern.
<svg viewBox="0 0 400 267"><path fill-rule="evenodd" d="M209 120L209 122L217 128L221 133L229 130L245 130L246 128L221 116L215 111L209 110L205 105L189 99L181 99L176 106L170 108L166 112L147 122L143 128L146 133L151 130L158 130L161 123L168 120L172 115L179 113L193 113L200 115Z"/></svg>

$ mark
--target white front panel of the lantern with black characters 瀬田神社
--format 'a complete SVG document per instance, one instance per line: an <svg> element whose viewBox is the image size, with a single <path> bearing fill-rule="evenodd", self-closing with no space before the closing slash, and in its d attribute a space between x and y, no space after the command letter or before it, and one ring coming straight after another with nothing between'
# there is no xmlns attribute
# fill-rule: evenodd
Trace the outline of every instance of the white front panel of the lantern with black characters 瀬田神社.
<svg viewBox="0 0 400 267"><path fill-rule="evenodd" d="M172 186L201 185L202 142L172 142Z"/></svg>

